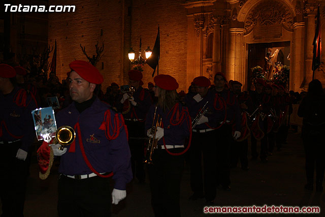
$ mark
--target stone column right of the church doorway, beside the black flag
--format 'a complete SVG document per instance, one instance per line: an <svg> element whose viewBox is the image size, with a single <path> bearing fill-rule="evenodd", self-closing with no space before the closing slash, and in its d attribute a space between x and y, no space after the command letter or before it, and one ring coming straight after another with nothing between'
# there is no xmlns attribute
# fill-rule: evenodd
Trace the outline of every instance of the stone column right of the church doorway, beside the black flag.
<svg viewBox="0 0 325 217"><path fill-rule="evenodd" d="M306 51L305 51L305 85L312 80L313 71L311 69L313 62L313 39L315 35L315 13L317 6L315 4L307 4L307 37L306 37Z"/></svg>

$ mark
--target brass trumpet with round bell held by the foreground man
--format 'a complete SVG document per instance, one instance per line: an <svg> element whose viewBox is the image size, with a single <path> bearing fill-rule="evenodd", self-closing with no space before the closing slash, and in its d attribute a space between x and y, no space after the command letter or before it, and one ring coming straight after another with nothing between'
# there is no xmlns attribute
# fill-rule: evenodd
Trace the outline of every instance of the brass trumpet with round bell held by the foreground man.
<svg viewBox="0 0 325 217"><path fill-rule="evenodd" d="M59 143L61 146L60 150L63 150L64 146L70 145L76 139L76 132L70 126L61 126L57 129L55 138L52 144Z"/></svg>

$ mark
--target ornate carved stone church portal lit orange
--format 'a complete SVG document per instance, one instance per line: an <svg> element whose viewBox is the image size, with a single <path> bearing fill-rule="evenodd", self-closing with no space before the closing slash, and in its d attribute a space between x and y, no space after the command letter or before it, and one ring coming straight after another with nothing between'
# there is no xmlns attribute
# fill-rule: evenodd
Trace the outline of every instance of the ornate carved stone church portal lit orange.
<svg viewBox="0 0 325 217"><path fill-rule="evenodd" d="M280 71L284 69L288 89L306 89L312 80L318 4L325 12L324 1L317 0L209 0L183 4L188 20L187 86L196 76L213 80L214 74L221 71L228 80L242 82L247 90L252 86L252 69L258 66L269 81L282 76ZM321 65L314 78L324 84L322 69Z"/></svg>

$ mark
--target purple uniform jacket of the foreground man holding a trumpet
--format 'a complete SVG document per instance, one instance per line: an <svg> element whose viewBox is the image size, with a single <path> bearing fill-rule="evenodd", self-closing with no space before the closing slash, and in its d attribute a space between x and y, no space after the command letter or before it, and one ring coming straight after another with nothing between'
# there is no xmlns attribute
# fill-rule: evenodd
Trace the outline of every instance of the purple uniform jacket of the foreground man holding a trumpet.
<svg viewBox="0 0 325 217"><path fill-rule="evenodd" d="M105 112L110 111L111 123L109 133L113 134L115 127L114 116L116 112L110 109L110 106L101 102L98 98L93 104L79 113L73 102L67 108L56 114L57 127L70 126L75 127L79 121L82 144L85 154L91 166L99 173L113 171L115 180L115 189L125 190L125 185L132 179L131 170L131 153L127 143L127 137L124 125L119 118L119 136L116 139L108 140L105 130L100 127L104 121ZM90 174L92 171L85 163L80 145L78 131L76 131L75 152L69 152L71 145L67 146L68 150L61 156L59 173L66 175Z"/></svg>

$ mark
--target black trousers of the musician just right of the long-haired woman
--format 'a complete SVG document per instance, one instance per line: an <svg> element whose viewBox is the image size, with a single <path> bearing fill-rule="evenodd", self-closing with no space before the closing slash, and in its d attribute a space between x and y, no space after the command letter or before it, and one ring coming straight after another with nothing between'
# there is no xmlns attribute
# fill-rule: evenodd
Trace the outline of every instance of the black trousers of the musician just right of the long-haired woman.
<svg viewBox="0 0 325 217"><path fill-rule="evenodd" d="M192 141L189 148L191 190L196 195L205 195L205 198L209 201L214 200L216 196L216 153L215 131L192 133ZM204 162L204 185L202 154Z"/></svg>

